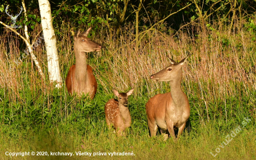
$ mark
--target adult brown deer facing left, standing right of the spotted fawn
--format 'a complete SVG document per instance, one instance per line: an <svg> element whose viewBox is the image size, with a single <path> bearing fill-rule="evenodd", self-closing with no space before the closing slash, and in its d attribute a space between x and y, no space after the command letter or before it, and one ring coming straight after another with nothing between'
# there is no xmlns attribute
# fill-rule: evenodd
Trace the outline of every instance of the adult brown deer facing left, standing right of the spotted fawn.
<svg viewBox="0 0 256 160"><path fill-rule="evenodd" d="M171 87L170 93L156 94L146 104L151 137L156 135L157 128L160 127L164 131L168 130L170 136L177 141L184 130L190 115L189 100L181 88L182 66L187 59L188 56L176 63L168 58L171 64L150 76L152 81L169 81ZM176 138L175 130L177 129Z"/></svg>

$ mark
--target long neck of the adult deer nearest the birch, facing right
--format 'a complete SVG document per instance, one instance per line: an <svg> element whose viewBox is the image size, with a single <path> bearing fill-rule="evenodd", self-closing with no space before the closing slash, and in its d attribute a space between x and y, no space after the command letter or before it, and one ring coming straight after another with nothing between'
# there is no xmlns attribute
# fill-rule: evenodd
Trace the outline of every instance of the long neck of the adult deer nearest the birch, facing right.
<svg viewBox="0 0 256 160"><path fill-rule="evenodd" d="M75 79L80 85L86 85L87 80L87 58L86 53L74 46L75 54ZM81 86L82 87L82 86Z"/></svg>

